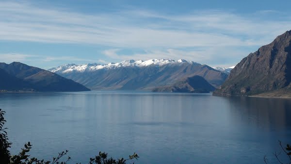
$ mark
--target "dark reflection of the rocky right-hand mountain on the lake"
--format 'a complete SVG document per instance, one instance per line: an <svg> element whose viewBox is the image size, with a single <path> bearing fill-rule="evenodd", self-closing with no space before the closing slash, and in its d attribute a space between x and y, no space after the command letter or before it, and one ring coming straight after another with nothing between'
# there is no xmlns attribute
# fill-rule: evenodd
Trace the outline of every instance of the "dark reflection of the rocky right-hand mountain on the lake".
<svg viewBox="0 0 291 164"><path fill-rule="evenodd" d="M286 98L246 98L229 99L233 121L269 130L285 130L291 127L291 99Z"/></svg>

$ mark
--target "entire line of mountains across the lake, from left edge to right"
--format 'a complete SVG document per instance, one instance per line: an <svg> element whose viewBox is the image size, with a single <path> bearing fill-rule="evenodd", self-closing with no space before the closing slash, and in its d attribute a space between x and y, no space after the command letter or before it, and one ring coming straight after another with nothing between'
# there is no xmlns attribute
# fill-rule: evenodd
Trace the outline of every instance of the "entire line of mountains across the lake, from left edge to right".
<svg viewBox="0 0 291 164"><path fill-rule="evenodd" d="M183 59L152 59L107 65L67 64L47 71L13 62L0 63L0 77L1 92L91 88L201 93L216 87L216 96L291 97L291 31L228 68Z"/></svg>

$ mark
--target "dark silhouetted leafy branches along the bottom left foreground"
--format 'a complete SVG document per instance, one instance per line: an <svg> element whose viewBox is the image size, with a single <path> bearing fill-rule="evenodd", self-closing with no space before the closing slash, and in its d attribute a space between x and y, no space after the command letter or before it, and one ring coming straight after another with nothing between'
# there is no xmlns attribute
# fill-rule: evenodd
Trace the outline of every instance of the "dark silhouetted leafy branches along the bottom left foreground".
<svg viewBox="0 0 291 164"><path fill-rule="evenodd" d="M0 109L0 164L67 164L71 157L63 162L60 160L67 155L68 150L65 150L57 157L53 157L52 161L38 160L37 158L30 158L28 152L31 150L32 145L30 142L24 145L24 148L21 148L21 152L17 155L11 155L8 148L11 148L12 143L9 142L7 136L7 128L4 128L6 120L4 119L5 112ZM99 152L99 155L94 158L90 158L89 164L126 164L129 161L137 160L139 156L134 153L129 155L128 159L113 159L108 157L108 154L105 152ZM134 163L133 163L134 164Z"/></svg>

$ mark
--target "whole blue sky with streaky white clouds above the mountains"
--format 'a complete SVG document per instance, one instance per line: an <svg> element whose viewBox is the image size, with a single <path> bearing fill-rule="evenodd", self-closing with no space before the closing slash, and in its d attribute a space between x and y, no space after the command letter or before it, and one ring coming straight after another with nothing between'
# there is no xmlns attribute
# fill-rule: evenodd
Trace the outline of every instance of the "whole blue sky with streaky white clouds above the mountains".
<svg viewBox="0 0 291 164"><path fill-rule="evenodd" d="M291 30L290 0L1 0L0 62L234 66Z"/></svg>

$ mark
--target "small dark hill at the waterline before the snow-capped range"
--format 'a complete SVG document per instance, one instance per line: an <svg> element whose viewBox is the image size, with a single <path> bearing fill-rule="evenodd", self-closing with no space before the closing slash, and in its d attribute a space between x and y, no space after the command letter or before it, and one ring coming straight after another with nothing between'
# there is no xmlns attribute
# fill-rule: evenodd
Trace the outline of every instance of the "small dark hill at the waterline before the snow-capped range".
<svg viewBox="0 0 291 164"><path fill-rule="evenodd" d="M176 82L171 86L162 86L153 89L153 92L182 92L182 93L209 93L214 91L213 87L201 76L193 76Z"/></svg>

